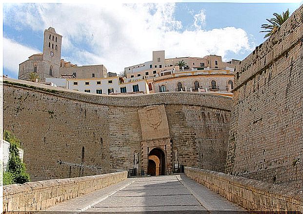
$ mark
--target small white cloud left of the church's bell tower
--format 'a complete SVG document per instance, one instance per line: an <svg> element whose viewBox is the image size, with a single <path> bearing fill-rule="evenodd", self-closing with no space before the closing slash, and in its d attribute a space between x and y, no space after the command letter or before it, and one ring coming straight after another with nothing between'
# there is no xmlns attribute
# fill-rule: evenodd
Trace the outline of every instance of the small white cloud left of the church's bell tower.
<svg viewBox="0 0 303 214"><path fill-rule="evenodd" d="M3 67L18 76L19 64L40 51L3 37Z"/></svg>

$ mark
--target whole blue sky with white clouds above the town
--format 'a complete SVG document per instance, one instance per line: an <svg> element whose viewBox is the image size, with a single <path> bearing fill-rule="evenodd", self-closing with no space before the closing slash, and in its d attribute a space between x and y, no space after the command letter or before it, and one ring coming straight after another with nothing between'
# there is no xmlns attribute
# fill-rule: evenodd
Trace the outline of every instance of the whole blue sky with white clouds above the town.
<svg viewBox="0 0 303 214"><path fill-rule="evenodd" d="M3 3L3 74L18 78L19 64L42 52L50 26L63 36L61 58L78 66L103 64L110 72L150 61L159 50L165 58L242 60L265 41L259 32L266 18L287 8L291 14L303 3L206 1Z"/></svg>

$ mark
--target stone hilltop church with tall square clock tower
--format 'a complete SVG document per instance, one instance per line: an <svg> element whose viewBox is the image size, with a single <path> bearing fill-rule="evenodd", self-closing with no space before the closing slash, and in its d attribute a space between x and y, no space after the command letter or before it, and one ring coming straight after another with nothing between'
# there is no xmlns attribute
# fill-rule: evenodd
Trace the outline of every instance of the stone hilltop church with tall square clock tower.
<svg viewBox="0 0 303 214"><path fill-rule="evenodd" d="M53 27L44 30L43 52L33 54L20 63L18 79L28 80L29 74L39 75L42 82L47 77L58 78L105 78L104 65L77 66L61 59L62 36Z"/></svg>

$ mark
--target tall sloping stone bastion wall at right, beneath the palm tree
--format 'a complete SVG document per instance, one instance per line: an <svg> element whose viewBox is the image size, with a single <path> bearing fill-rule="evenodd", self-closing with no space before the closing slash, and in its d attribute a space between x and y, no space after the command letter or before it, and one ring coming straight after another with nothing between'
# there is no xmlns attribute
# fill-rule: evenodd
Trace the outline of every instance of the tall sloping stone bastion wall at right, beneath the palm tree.
<svg viewBox="0 0 303 214"><path fill-rule="evenodd" d="M235 71L226 173L303 188L303 6Z"/></svg>

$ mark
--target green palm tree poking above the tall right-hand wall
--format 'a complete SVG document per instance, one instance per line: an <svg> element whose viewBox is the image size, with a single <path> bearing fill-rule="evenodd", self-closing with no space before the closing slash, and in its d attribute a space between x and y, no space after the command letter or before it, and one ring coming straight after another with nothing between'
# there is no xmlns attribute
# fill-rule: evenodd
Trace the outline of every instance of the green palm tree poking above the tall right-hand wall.
<svg viewBox="0 0 303 214"><path fill-rule="evenodd" d="M261 28L266 29L266 31L260 31L261 32L268 32L264 38L273 35L274 33L276 33L278 31L278 29L280 28L280 26L287 20L287 18L289 18L289 10L287 9L285 12L281 14L277 14L274 13L273 14L274 18L266 18L266 20L270 23L270 24L263 24L261 25Z"/></svg>

